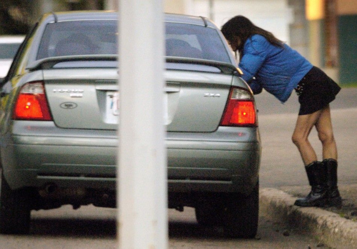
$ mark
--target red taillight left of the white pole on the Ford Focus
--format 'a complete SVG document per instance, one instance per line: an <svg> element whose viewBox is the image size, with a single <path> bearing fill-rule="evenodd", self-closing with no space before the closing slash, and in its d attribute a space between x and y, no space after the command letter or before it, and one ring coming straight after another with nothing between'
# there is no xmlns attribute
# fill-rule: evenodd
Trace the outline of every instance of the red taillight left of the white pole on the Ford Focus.
<svg viewBox="0 0 357 249"><path fill-rule="evenodd" d="M42 82L26 83L21 87L13 119L52 120Z"/></svg>

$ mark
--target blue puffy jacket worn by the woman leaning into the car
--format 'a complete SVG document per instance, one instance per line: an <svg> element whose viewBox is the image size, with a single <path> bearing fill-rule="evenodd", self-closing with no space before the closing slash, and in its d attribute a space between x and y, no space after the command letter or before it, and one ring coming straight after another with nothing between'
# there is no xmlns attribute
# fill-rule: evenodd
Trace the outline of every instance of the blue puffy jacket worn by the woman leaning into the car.
<svg viewBox="0 0 357 249"><path fill-rule="evenodd" d="M312 65L288 45L284 44L284 48L276 47L264 36L255 34L244 44L239 67L244 73L243 79L249 83L254 94L264 88L285 102ZM256 80L252 80L253 77Z"/></svg>

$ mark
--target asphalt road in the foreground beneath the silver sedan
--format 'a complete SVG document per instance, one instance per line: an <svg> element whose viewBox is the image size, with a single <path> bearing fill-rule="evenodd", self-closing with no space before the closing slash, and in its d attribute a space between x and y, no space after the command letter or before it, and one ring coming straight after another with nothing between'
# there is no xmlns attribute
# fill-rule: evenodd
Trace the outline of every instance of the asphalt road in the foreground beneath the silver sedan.
<svg viewBox="0 0 357 249"><path fill-rule="evenodd" d="M118 249L116 212L91 205L35 211L30 235L0 235L0 249ZM168 249L316 249L318 243L309 234L263 216L257 238L225 238L220 229L198 226L194 209L169 210Z"/></svg>

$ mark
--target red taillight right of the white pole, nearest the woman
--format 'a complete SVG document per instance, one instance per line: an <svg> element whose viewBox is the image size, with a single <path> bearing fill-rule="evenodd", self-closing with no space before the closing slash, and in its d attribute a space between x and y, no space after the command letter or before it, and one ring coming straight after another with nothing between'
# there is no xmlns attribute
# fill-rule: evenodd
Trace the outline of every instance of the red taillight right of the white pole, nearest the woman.
<svg viewBox="0 0 357 249"><path fill-rule="evenodd" d="M227 106L221 121L222 126L256 126L257 114L252 94L243 89L230 89Z"/></svg>

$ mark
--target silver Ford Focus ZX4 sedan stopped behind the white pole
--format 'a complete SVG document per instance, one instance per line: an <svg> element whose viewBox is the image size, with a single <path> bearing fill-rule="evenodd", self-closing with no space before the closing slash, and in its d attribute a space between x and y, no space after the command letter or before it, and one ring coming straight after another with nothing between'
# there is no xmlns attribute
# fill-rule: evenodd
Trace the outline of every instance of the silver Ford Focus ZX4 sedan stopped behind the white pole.
<svg viewBox="0 0 357 249"><path fill-rule="evenodd" d="M194 207L200 224L253 237L252 92L210 20L167 14L165 31L168 208ZM25 38L0 83L0 232L29 232L31 210L116 206L117 72L116 13L49 13Z"/></svg>

